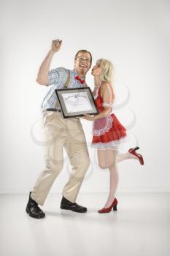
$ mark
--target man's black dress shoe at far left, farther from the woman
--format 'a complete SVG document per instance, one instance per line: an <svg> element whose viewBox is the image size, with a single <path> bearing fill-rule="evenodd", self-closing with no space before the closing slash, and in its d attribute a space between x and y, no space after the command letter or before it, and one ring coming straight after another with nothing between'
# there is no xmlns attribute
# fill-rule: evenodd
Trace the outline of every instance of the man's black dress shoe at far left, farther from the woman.
<svg viewBox="0 0 170 256"><path fill-rule="evenodd" d="M42 219L45 217L44 211L42 211L39 208L38 203L36 203L36 201L34 201L31 198L31 192L29 192L29 200L26 206L26 212L27 214L29 214L30 217L33 217L36 219Z"/></svg>

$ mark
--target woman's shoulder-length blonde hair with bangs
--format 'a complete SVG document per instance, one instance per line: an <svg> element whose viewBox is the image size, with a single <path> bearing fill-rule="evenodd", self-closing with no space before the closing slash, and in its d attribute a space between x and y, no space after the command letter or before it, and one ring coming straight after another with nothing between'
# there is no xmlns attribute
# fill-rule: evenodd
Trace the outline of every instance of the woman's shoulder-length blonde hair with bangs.
<svg viewBox="0 0 170 256"><path fill-rule="evenodd" d="M101 64L102 71L100 75L101 82L108 82L114 86L114 67L111 61L107 59L98 59L96 64Z"/></svg>

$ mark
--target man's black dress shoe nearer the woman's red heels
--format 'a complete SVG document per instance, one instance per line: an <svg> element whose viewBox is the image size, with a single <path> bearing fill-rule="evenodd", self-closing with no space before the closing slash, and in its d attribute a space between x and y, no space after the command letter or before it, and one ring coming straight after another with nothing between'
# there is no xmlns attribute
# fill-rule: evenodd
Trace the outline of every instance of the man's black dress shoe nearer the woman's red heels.
<svg viewBox="0 0 170 256"><path fill-rule="evenodd" d="M76 211L80 213L84 213L88 210L86 207L79 206L77 203L70 202L65 197L63 197L61 200L61 209Z"/></svg>

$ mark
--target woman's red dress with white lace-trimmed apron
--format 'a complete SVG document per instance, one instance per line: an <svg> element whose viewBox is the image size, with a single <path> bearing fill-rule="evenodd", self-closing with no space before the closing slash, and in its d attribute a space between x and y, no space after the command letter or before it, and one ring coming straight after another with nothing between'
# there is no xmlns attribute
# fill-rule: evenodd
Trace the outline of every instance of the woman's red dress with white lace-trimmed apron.
<svg viewBox="0 0 170 256"><path fill-rule="evenodd" d="M102 84L103 83L101 83L101 86ZM101 113L104 110L104 106L112 105L104 102L104 99L101 97L101 86L99 87L96 93L96 97L94 97L99 113ZM123 125L120 124L120 121L117 119L114 113L110 113L108 116L104 118L100 118L93 121L92 146L94 147L117 147L123 140L125 140L126 136L127 134L125 127L123 127Z"/></svg>

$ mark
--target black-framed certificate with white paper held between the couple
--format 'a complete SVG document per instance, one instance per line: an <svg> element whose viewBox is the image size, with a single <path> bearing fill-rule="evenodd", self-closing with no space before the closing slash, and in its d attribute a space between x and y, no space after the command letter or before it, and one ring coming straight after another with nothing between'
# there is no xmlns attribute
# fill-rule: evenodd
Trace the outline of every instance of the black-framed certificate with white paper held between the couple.
<svg viewBox="0 0 170 256"><path fill-rule="evenodd" d="M63 118L96 115L98 110L90 87L56 89L58 102L61 106Z"/></svg>

